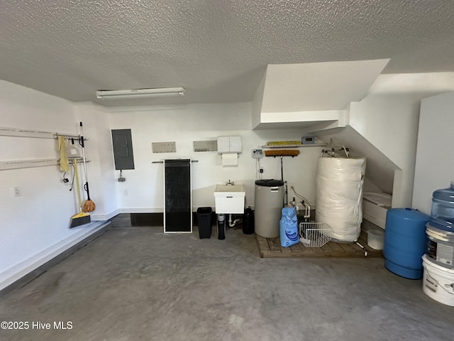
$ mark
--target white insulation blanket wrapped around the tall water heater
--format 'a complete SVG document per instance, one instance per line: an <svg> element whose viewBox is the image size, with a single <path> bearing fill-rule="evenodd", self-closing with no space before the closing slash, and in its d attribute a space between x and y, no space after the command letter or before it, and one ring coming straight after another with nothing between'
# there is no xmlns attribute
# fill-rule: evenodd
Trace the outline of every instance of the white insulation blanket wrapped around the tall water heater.
<svg viewBox="0 0 454 341"><path fill-rule="evenodd" d="M339 242L360 237L365 166L365 158L319 158L316 221L328 224Z"/></svg>

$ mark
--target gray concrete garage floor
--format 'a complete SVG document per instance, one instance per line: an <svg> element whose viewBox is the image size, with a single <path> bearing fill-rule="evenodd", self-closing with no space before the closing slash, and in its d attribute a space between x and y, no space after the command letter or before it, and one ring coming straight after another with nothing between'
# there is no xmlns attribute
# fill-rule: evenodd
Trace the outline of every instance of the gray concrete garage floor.
<svg viewBox="0 0 454 341"><path fill-rule="evenodd" d="M260 259L238 229L218 240L113 227L6 293L0 316L29 325L0 340L450 341L454 331L454 308L383 259Z"/></svg>

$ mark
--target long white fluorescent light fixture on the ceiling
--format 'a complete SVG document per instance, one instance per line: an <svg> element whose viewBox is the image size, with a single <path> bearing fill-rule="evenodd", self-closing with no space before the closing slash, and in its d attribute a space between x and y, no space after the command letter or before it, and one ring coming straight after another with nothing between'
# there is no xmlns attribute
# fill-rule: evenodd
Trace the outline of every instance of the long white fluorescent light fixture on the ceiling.
<svg viewBox="0 0 454 341"><path fill-rule="evenodd" d="M96 97L100 99L128 99L167 96L184 96L184 87L156 87L153 89L96 91Z"/></svg>

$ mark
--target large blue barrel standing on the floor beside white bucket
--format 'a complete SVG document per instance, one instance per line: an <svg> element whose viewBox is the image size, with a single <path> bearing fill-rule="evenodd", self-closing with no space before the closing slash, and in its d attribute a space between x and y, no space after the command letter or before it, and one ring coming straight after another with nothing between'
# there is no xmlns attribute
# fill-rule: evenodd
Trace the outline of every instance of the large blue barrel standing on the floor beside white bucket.
<svg viewBox="0 0 454 341"><path fill-rule="evenodd" d="M430 217L411 208L392 208L384 229L384 266L394 274L419 279L426 252L426 223Z"/></svg>

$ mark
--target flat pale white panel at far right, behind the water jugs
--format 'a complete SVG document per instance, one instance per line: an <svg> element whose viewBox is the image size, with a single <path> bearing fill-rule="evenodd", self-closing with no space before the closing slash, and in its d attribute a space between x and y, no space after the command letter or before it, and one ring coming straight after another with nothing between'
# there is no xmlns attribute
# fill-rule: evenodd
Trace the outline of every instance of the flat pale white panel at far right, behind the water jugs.
<svg viewBox="0 0 454 341"><path fill-rule="evenodd" d="M432 193L454 180L454 92L421 101L413 207L431 214Z"/></svg>

